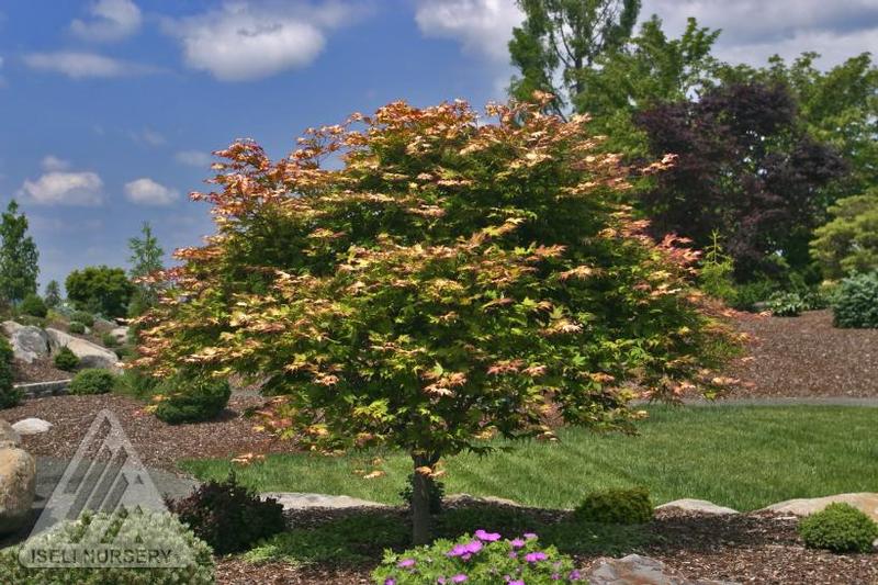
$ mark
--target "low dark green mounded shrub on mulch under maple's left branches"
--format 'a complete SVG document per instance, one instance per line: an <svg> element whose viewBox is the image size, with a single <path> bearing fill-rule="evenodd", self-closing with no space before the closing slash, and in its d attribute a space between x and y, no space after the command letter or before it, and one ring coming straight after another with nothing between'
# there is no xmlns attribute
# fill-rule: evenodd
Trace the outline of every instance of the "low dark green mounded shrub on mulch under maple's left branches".
<svg viewBox="0 0 878 585"><path fill-rule="evenodd" d="M181 374L162 383L155 414L169 425L211 420L223 412L230 395L227 380Z"/></svg>

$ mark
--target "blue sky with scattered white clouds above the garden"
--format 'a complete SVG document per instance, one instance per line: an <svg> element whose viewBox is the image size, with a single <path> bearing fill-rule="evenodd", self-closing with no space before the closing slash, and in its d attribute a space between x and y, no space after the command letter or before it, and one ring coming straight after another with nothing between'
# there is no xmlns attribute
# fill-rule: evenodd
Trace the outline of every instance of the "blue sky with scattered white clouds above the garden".
<svg viewBox="0 0 878 585"><path fill-rule="evenodd" d="M878 0L646 0L718 50L763 63L878 50ZM308 126L392 100L503 98L513 0L0 0L0 204L22 203L41 284L126 266L149 221L167 251L212 232L187 193L209 154L252 137L272 157Z"/></svg>

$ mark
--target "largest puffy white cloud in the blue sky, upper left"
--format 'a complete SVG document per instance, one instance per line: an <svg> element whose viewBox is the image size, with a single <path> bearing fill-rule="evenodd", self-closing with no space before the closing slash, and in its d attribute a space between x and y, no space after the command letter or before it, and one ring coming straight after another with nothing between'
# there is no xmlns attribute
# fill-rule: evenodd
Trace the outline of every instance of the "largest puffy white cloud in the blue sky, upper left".
<svg viewBox="0 0 878 585"><path fill-rule="evenodd" d="M183 60L222 81L250 81L309 65L326 45L326 32L352 20L359 9L340 2L256 4L166 21Z"/></svg>

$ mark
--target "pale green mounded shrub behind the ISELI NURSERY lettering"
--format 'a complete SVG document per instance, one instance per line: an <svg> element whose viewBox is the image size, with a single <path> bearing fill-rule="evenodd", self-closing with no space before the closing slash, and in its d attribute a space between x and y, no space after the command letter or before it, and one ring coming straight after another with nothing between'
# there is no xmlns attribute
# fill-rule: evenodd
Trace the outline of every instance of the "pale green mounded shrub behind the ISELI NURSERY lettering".
<svg viewBox="0 0 878 585"><path fill-rule="evenodd" d="M154 542L154 547L170 549L168 564L180 566L64 566L59 570L25 567L19 562L19 554L27 554L29 550L68 549L71 543L74 547L101 547L100 537L104 533L120 547L124 542ZM65 521L19 547L0 551L0 583L15 585L212 585L214 571L210 547L167 513L83 514L81 518Z"/></svg>

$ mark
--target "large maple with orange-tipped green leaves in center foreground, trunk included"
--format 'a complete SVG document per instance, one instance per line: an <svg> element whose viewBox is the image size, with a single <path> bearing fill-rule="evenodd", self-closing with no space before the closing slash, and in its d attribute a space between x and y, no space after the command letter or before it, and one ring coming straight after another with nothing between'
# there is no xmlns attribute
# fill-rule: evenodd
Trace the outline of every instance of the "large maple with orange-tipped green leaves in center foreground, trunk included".
<svg viewBox="0 0 878 585"><path fill-rule="evenodd" d="M544 105L492 106L492 124L463 102L397 102L278 162L234 144L196 195L217 234L178 251L133 365L258 378L284 437L404 450L417 543L441 458L551 439L550 412L629 429L623 380L711 391L699 376L727 338L690 289L693 256L642 234L616 203L630 169ZM322 169L331 153L344 166Z"/></svg>

